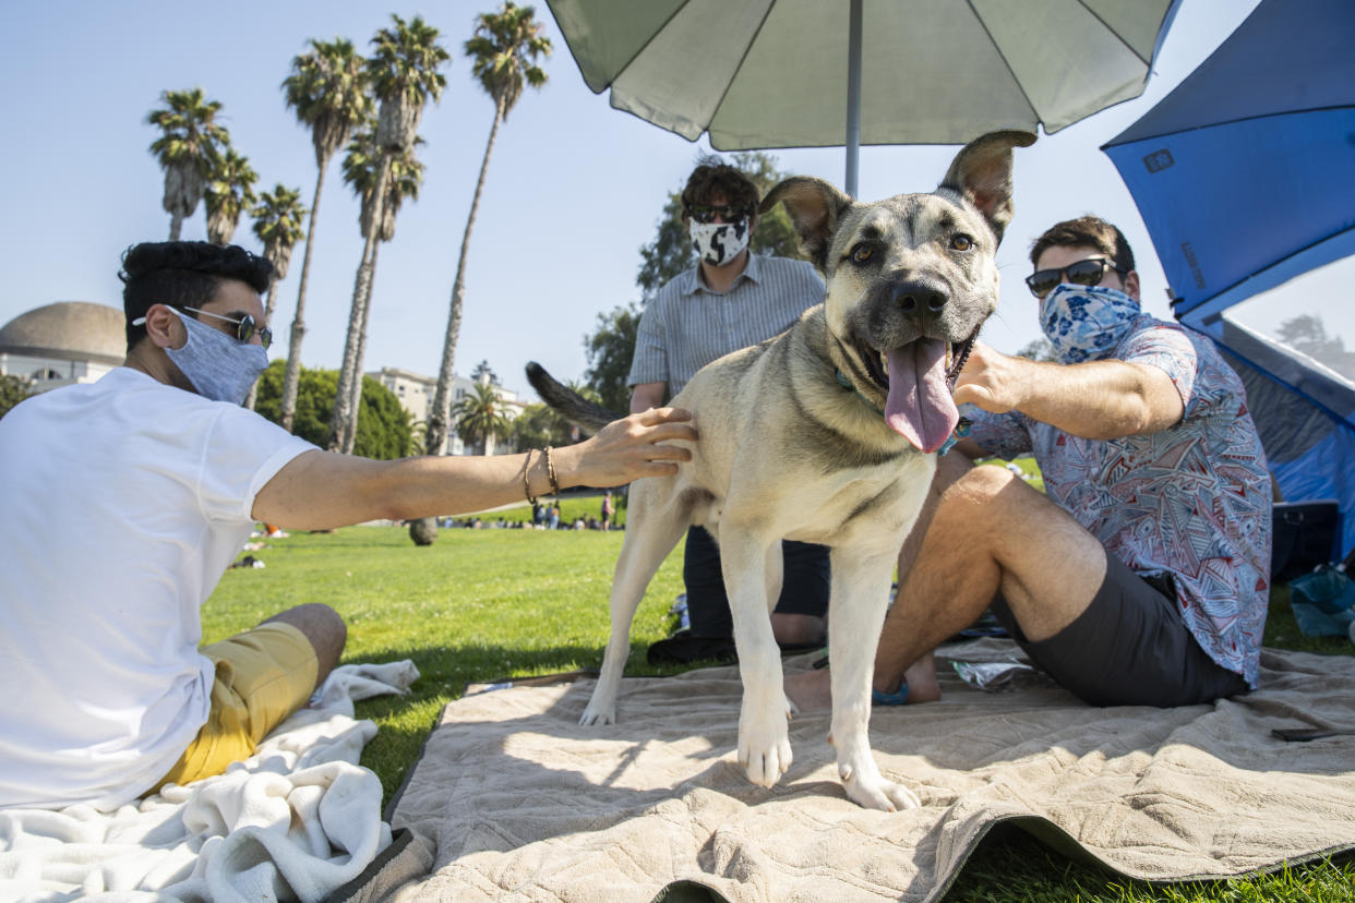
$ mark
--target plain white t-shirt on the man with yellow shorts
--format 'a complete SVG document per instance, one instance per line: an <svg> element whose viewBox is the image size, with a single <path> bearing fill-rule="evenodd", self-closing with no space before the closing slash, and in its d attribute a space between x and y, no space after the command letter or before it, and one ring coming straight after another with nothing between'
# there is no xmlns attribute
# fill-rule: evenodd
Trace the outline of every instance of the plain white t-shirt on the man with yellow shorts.
<svg viewBox="0 0 1355 903"><path fill-rule="evenodd" d="M210 708L199 607L312 448L127 367L0 420L0 808L164 777Z"/></svg>

